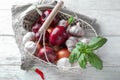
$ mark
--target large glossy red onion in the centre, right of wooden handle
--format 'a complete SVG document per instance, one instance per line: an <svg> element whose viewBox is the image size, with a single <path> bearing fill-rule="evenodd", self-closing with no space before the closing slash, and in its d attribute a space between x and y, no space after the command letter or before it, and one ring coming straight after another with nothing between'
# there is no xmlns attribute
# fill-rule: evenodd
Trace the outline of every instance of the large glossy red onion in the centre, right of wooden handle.
<svg viewBox="0 0 120 80"><path fill-rule="evenodd" d="M52 45L60 46L67 40L66 29L63 26L57 26L49 36L49 42Z"/></svg>

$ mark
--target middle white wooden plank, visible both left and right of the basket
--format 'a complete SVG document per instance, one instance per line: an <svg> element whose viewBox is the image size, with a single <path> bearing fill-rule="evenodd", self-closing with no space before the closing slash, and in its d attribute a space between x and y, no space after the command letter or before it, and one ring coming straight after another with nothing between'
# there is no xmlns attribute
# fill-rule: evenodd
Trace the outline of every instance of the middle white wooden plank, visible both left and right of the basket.
<svg viewBox="0 0 120 80"><path fill-rule="evenodd" d="M104 66L120 66L120 37L107 37L108 42L98 50ZM0 64L20 64L20 53L13 37L0 36Z"/></svg>

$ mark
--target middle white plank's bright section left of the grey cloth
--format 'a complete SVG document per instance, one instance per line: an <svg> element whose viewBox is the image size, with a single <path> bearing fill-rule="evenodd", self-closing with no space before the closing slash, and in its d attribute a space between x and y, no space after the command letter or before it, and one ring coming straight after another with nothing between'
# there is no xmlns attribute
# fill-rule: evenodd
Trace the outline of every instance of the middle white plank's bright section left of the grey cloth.
<svg viewBox="0 0 120 80"><path fill-rule="evenodd" d="M20 59L14 37L0 36L0 65L20 65Z"/></svg>

